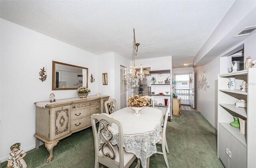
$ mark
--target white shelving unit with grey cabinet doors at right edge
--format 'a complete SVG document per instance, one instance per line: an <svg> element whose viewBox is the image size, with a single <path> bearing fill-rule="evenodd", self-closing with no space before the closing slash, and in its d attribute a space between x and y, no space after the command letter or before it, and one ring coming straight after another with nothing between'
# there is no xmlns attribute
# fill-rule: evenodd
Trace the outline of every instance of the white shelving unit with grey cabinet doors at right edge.
<svg viewBox="0 0 256 168"><path fill-rule="evenodd" d="M236 90L229 90L228 81L235 77ZM243 81L248 91L240 90ZM235 102L246 100L247 108ZM232 127L234 117L247 119L247 135ZM256 166L256 68L220 74L218 78L218 157L226 168Z"/></svg>

